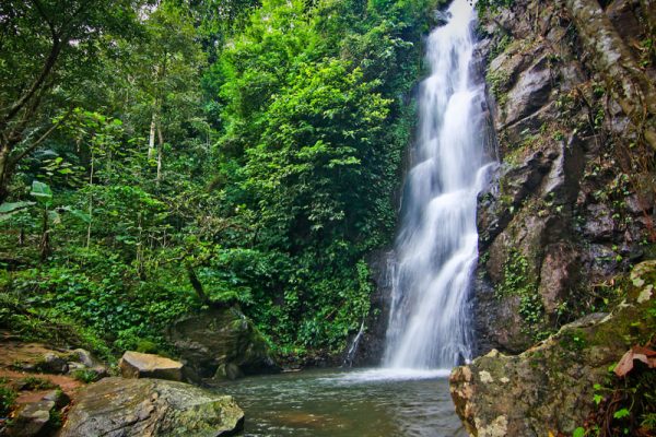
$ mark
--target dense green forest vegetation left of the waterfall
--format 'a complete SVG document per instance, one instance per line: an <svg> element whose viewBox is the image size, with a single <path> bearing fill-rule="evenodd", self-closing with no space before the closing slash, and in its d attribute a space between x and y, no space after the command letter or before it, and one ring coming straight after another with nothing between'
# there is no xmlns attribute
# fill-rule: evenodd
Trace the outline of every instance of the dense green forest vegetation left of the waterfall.
<svg viewBox="0 0 656 437"><path fill-rule="evenodd" d="M3 1L0 324L162 351L239 304L283 354L339 351L435 3Z"/></svg>

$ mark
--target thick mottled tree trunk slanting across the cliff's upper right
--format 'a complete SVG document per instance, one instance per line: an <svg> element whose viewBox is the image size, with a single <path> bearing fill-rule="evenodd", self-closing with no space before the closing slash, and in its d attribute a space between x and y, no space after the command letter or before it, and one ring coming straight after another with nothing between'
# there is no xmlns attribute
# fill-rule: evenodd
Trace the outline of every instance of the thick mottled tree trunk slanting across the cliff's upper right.
<svg viewBox="0 0 656 437"><path fill-rule="evenodd" d="M656 150L656 92L597 0L565 0L584 47L639 134Z"/></svg>

